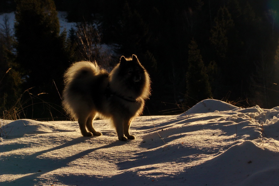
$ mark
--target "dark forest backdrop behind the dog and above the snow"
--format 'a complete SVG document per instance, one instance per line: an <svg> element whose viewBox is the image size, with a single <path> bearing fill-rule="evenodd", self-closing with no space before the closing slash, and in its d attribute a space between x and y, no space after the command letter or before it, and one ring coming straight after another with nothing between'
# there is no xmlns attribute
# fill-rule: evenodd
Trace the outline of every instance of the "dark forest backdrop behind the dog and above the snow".
<svg viewBox="0 0 279 186"><path fill-rule="evenodd" d="M276 0L1 0L0 13L11 11L14 28L0 25L2 118L66 118L70 64L96 60L109 70L132 54L152 80L145 115L182 113L207 98L279 105ZM77 27L61 32L57 11ZM117 55L101 53L102 44Z"/></svg>

